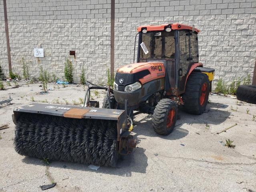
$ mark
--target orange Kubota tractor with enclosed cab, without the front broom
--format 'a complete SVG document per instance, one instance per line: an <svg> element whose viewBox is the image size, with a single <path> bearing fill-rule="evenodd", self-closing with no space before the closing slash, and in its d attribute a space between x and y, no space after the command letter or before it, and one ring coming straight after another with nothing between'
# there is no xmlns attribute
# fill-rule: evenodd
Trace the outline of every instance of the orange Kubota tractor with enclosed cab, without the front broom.
<svg viewBox="0 0 256 192"><path fill-rule="evenodd" d="M177 104L192 114L202 114L212 87L214 69L198 58L199 30L183 24L138 27L137 63L119 68L113 94L103 108L153 114L158 134L170 134L177 120Z"/></svg>

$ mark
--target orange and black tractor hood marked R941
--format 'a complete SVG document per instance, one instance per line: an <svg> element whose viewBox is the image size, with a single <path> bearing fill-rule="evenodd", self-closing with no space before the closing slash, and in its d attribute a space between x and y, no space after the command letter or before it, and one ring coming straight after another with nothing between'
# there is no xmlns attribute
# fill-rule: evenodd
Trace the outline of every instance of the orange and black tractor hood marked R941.
<svg viewBox="0 0 256 192"><path fill-rule="evenodd" d="M143 85L146 82L164 77L165 68L162 62L134 63L118 68L115 82L118 84L118 90L122 90L124 86L137 81Z"/></svg>

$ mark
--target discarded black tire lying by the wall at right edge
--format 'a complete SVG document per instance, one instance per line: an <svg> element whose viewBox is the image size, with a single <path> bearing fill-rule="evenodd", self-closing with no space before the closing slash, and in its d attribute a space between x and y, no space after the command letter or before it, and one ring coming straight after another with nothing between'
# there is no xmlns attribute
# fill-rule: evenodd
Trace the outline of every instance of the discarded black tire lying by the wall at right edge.
<svg viewBox="0 0 256 192"><path fill-rule="evenodd" d="M240 85L236 91L236 98L240 101L256 104L256 85Z"/></svg>

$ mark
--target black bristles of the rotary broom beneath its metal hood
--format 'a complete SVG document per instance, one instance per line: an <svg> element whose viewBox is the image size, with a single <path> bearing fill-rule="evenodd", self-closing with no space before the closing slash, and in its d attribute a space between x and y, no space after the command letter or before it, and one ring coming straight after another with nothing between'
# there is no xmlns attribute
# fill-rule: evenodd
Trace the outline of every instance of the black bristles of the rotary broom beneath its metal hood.
<svg viewBox="0 0 256 192"><path fill-rule="evenodd" d="M14 146L20 155L116 167L117 128L112 120L22 114Z"/></svg>

